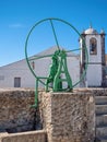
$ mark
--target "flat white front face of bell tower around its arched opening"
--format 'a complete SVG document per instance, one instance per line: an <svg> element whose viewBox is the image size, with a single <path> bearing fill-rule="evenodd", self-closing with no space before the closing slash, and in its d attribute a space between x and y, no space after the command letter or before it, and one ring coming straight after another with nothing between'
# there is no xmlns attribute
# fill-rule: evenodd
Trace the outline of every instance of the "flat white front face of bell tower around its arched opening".
<svg viewBox="0 0 107 142"><path fill-rule="evenodd" d="M90 39L94 37L97 39L97 55L90 55ZM88 51L88 68L87 68L87 85L100 86L102 85L102 43L100 35L87 35L86 47Z"/></svg>

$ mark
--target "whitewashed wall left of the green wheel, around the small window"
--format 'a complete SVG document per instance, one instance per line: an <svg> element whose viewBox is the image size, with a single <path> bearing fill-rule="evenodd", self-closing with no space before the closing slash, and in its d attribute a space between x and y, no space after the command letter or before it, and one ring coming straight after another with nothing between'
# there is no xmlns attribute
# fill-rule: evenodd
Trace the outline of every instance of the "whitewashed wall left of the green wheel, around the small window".
<svg viewBox="0 0 107 142"><path fill-rule="evenodd" d="M1 67L0 76L3 76L0 87L14 87L14 78L21 78L21 87L34 87L35 84L25 60Z"/></svg>

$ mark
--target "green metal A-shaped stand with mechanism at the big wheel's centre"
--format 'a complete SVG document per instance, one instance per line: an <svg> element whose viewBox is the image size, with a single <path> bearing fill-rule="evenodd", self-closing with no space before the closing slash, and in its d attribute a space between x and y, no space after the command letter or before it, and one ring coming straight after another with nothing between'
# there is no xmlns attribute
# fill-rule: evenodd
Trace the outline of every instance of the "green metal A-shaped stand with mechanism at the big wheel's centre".
<svg viewBox="0 0 107 142"><path fill-rule="evenodd" d="M46 81L46 92L48 91L48 84L52 84L52 91L72 91L72 80L67 67L67 54L64 50L57 50L52 56L52 63L50 66L49 75ZM64 74L66 79L61 75ZM62 88L62 82L68 83L68 88Z"/></svg>

